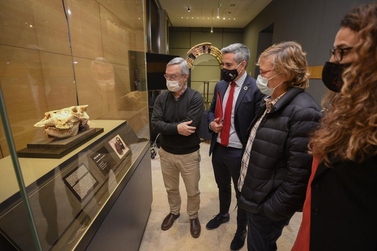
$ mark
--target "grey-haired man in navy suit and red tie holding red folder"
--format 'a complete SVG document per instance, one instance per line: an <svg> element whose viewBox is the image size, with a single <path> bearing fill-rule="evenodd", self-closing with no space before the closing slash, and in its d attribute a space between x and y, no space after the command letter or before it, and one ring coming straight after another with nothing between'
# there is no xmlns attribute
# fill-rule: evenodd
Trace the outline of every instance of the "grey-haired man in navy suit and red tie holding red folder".
<svg viewBox="0 0 377 251"><path fill-rule="evenodd" d="M221 49L222 78L217 82L210 110L208 111L208 127L212 132L209 154L212 155L213 172L219 188L219 213L211 219L206 228L218 228L229 221L231 202L231 180L233 180L236 198L241 170L242 142L247 141L245 135L251 121L259 110L259 103L264 96L256 86L255 79L246 73L250 58L250 50L244 44L231 44ZM223 117L215 118L217 91L222 99ZM247 236L247 212L237 209L237 230L230 244L233 251L244 246Z"/></svg>

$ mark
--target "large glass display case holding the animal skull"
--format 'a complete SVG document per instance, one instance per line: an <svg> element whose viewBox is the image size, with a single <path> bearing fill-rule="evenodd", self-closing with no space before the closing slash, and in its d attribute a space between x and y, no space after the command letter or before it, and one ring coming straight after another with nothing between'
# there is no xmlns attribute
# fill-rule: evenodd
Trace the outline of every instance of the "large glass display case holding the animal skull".
<svg viewBox="0 0 377 251"><path fill-rule="evenodd" d="M77 248L149 149L144 8L0 2L0 246Z"/></svg>

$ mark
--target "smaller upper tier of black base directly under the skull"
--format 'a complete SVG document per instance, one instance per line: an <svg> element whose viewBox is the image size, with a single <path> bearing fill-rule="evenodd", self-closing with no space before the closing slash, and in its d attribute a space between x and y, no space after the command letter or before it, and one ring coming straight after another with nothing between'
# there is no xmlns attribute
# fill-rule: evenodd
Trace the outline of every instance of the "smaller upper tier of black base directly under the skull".
<svg viewBox="0 0 377 251"><path fill-rule="evenodd" d="M32 143L27 144L28 148L69 148L78 141L89 137L96 132L96 128L89 128L86 131L78 131L78 133L72 137L68 138L54 138L46 137L36 140Z"/></svg>

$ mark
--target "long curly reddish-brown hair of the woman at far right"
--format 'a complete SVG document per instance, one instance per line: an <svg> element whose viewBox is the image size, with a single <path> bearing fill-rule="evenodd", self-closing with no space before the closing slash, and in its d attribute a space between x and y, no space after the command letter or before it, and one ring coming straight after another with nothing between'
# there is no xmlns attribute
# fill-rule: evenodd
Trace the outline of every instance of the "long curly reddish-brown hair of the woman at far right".
<svg viewBox="0 0 377 251"><path fill-rule="evenodd" d="M377 3L356 7L341 26L357 32L356 59L343 72L341 92L323 100L329 111L309 143L309 152L328 167L377 154Z"/></svg>

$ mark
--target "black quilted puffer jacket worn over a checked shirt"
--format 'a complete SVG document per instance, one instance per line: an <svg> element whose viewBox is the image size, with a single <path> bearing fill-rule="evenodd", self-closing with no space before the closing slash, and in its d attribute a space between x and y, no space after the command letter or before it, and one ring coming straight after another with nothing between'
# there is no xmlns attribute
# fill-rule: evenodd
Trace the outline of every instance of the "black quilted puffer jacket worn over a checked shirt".
<svg viewBox="0 0 377 251"><path fill-rule="evenodd" d="M247 135L265 110L263 100ZM257 129L239 207L264 211L273 220L302 210L313 160L307 153L309 133L319 126L320 110L313 97L299 88L290 88L275 103Z"/></svg>

